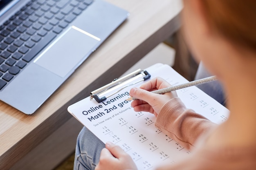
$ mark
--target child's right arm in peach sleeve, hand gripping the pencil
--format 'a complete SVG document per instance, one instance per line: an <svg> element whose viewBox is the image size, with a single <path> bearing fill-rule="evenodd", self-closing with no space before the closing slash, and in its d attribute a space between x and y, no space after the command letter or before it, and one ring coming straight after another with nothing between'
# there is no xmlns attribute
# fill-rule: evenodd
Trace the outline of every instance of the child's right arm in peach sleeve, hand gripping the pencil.
<svg viewBox="0 0 256 170"><path fill-rule="evenodd" d="M168 82L157 77L140 88L132 88L130 95L137 100L131 106L135 111L153 113L157 117L156 127L159 130L185 148L191 149L198 137L216 127L216 124L187 109L175 91L162 95L149 92L169 86Z"/></svg>

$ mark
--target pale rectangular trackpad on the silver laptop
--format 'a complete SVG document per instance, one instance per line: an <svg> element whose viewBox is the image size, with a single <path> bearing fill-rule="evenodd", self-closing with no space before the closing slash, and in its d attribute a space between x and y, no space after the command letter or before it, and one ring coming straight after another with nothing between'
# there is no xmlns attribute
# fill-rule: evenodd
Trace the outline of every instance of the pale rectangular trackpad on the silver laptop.
<svg viewBox="0 0 256 170"><path fill-rule="evenodd" d="M95 50L99 41L94 35L72 26L40 54L34 63L65 77Z"/></svg>

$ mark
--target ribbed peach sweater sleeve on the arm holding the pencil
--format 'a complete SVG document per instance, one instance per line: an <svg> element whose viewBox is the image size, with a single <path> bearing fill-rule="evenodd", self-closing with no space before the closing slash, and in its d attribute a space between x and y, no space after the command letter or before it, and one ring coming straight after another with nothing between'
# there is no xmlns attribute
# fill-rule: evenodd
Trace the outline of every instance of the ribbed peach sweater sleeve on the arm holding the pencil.
<svg viewBox="0 0 256 170"><path fill-rule="evenodd" d="M187 109L180 98L175 97L162 107L155 126L181 146L192 149L198 137L217 125Z"/></svg>

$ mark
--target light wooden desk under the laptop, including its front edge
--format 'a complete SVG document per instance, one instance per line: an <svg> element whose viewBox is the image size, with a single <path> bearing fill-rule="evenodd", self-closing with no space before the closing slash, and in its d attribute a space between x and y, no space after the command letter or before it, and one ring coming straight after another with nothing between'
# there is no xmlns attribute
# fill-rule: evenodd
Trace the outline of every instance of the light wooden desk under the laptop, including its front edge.
<svg viewBox="0 0 256 170"><path fill-rule="evenodd" d="M130 16L33 115L0 102L0 169L52 169L74 152L81 124L67 106L111 82L180 24L180 0L107 0Z"/></svg>

